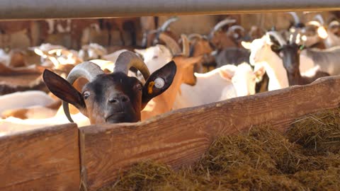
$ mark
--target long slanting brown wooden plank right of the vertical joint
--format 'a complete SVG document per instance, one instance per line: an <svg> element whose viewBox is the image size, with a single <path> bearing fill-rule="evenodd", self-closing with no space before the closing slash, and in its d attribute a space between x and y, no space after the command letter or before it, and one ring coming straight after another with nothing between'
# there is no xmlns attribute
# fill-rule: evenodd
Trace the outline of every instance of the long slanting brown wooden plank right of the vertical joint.
<svg viewBox="0 0 340 191"><path fill-rule="evenodd" d="M336 108L339 101L340 77L333 76L307 86L177 110L146 122L83 127L81 180L89 190L96 190L115 182L119 172L138 161L153 159L173 168L188 165L217 136L261 124L284 130L296 118Z"/></svg>

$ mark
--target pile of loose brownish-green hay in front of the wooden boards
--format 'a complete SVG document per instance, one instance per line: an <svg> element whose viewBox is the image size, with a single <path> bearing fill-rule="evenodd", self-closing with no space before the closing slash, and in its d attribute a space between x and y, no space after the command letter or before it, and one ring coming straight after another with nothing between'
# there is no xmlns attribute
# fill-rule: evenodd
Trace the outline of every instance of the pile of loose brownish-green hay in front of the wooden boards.
<svg viewBox="0 0 340 191"><path fill-rule="evenodd" d="M146 161L101 190L340 190L340 110L220 137L191 168Z"/></svg>

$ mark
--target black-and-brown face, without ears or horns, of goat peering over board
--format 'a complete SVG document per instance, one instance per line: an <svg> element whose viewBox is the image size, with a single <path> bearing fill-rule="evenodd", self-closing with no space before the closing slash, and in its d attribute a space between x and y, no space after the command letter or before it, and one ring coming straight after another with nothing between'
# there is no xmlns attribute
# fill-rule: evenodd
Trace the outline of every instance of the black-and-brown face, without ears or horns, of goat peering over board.
<svg viewBox="0 0 340 191"><path fill-rule="evenodd" d="M142 83L123 73L102 74L81 91L91 123L137 122Z"/></svg>

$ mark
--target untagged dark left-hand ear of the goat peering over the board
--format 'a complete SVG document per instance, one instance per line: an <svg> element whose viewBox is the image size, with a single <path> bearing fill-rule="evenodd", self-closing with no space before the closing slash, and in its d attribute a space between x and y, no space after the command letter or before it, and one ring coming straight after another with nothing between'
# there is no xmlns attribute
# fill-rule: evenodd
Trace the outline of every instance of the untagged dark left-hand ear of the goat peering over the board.
<svg viewBox="0 0 340 191"><path fill-rule="evenodd" d="M68 81L54 72L45 69L42 79L47 88L58 98L71 103L79 110L86 108L84 98Z"/></svg>

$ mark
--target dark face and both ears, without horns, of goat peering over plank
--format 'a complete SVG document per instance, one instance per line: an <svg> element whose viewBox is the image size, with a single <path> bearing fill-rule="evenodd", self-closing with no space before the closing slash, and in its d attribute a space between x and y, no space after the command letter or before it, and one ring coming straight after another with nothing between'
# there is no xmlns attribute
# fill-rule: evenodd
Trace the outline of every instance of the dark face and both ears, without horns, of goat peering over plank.
<svg viewBox="0 0 340 191"><path fill-rule="evenodd" d="M98 124L140 121L141 110L149 100L169 88L175 74L174 62L154 71L144 86L135 77L120 71L99 74L86 83L81 93L52 71L45 70L43 79L55 96L78 108L83 115L89 117L91 124ZM67 112L68 108L65 114Z"/></svg>

